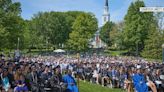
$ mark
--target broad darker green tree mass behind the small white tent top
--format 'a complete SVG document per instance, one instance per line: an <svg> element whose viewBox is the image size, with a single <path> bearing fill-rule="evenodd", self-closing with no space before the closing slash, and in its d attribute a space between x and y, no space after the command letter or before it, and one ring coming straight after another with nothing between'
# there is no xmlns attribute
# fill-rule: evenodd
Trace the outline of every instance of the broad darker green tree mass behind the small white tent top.
<svg viewBox="0 0 164 92"><path fill-rule="evenodd" d="M76 17L83 12L39 12L32 21L32 30L43 37L43 43L48 41L57 48L61 48L69 39Z"/></svg>

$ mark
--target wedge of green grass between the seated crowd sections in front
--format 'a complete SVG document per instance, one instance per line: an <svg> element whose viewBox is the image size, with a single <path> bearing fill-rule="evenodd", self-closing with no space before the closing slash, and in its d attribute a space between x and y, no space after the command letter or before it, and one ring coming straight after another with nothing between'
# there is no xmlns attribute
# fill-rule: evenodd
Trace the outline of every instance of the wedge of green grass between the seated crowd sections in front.
<svg viewBox="0 0 164 92"><path fill-rule="evenodd" d="M101 85L91 84L89 82L80 81L79 92L124 92L121 89L111 89L102 87Z"/></svg>

